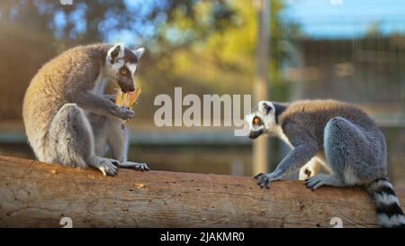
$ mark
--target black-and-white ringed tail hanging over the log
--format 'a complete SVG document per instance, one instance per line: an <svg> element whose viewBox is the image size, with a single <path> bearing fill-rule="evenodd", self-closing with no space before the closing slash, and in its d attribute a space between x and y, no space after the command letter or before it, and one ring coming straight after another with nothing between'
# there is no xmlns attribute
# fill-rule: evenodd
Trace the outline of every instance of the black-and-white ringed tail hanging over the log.
<svg viewBox="0 0 405 246"><path fill-rule="evenodd" d="M392 189L388 178L378 178L366 186L368 193L374 200L378 223L382 227L404 227L400 201Z"/></svg>

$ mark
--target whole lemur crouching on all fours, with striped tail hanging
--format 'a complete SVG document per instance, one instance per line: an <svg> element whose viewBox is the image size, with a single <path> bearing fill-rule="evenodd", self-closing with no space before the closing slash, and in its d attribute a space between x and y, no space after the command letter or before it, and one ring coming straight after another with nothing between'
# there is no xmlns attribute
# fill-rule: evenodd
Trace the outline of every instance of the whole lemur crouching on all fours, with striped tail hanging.
<svg viewBox="0 0 405 246"><path fill-rule="evenodd" d="M333 100L279 104L261 101L246 116L249 138L278 136L292 148L274 172L255 178L260 187L300 171L312 190L320 186L365 186L383 227L405 227L405 218L387 177L383 132L363 111ZM318 174L320 165L329 174Z"/></svg>

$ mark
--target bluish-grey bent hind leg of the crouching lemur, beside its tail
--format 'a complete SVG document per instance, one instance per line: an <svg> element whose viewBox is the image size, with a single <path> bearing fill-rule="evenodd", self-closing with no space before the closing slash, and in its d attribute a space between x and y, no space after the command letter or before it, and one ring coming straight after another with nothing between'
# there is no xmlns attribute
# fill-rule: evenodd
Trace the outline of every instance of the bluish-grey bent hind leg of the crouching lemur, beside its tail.
<svg viewBox="0 0 405 246"><path fill-rule="evenodd" d="M381 152L365 132L354 123L342 117L335 117L327 123L324 130L324 150L332 171L330 175L320 174L307 180L307 187L355 186L363 185L376 177L365 177L365 169L373 165Z"/></svg>

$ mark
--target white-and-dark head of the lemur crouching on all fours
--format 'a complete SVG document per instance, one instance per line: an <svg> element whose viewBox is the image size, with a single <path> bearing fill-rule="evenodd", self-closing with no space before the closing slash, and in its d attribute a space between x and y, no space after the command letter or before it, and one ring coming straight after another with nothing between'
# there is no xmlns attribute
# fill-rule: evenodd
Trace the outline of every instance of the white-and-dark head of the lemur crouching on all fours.
<svg viewBox="0 0 405 246"><path fill-rule="evenodd" d="M272 102L260 101L252 109L251 114L245 116L245 121L249 125L250 139L256 139L263 133L270 132L275 127L275 105Z"/></svg>

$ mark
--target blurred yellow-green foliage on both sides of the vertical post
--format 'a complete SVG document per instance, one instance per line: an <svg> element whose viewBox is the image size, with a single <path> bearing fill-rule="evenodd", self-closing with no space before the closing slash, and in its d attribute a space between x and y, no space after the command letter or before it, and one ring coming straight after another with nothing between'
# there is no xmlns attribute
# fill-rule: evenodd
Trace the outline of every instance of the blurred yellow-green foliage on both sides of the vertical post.
<svg viewBox="0 0 405 246"><path fill-rule="evenodd" d="M296 28L291 23L284 23L280 15L284 9L281 1L271 1L270 25L270 62L269 83L270 98L285 101L290 96L290 83L281 74L282 65L288 59L287 45ZM229 2L229 13L226 24L219 29L204 35L195 30L207 26L204 16L212 8L211 2L194 4L195 22L191 22L186 15L174 14L173 22L164 26L167 30L175 28L178 42L190 42L186 48L169 50L169 61L159 58L157 62L169 63L170 71L165 70L166 78L170 77L170 85L189 86L190 91L200 93L251 93L252 82L256 71L257 48L257 12L251 1ZM229 14L227 15L229 16ZM190 32L193 30L193 32ZM195 37L198 37L195 39ZM163 60L162 60L163 59ZM170 72L171 75L167 75ZM162 74L153 74L148 81L156 81ZM187 88L185 89L187 91Z"/></svg>

